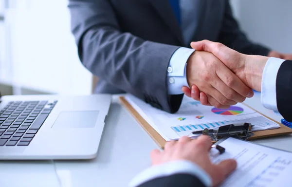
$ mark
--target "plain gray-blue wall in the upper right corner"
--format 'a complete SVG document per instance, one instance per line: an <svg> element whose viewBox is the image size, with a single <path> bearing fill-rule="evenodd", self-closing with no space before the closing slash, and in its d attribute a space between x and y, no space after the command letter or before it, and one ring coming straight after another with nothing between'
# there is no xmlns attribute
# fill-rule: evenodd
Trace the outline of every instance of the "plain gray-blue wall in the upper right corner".
<svg viewBox="0 0 292 187"><path fill-rule="evenodd" d="M231 0L231 4L250 39L292 53L292 0Z"/></svg>

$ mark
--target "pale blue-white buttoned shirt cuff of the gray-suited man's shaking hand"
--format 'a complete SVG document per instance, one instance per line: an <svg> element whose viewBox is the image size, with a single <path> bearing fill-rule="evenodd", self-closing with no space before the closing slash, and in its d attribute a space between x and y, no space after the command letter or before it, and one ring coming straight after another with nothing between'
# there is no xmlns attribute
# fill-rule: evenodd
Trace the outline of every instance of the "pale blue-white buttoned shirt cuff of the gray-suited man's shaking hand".
<svg viewBox="0 0 292 187"><path fill-rule="evenodd" d="M188 87L186 62L194 51L194 49L181 47L171 56L167 68L167 89L169 95L182 94L182 87Z"/></svg>

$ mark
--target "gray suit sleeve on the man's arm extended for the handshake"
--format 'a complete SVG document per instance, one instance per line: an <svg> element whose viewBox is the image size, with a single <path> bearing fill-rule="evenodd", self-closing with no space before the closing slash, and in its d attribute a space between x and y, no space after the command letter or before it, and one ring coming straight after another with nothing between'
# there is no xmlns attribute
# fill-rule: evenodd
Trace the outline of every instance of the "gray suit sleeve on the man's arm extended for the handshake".
<svg viewBox="0 0 292 187"><path fill-rule="evenodd" d="M178 46L121 32L108 0L70 0L72 32L83 65L93 75L143 99L176 112L182 95L168 95L166 74Z"/></svg>

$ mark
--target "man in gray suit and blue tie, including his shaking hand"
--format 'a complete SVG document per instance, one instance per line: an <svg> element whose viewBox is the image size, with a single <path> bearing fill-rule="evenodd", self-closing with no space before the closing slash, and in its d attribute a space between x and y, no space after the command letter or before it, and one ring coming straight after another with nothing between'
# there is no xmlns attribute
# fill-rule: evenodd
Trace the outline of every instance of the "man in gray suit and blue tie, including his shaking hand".
<svg viewBox="0 0 292 187"><path fill-rule="evenodd" d="M214 55L188 48L191 41L282 56L245 37L228 0L69 0L69 9L80 60L100 78L95 93L132 93L167 112L178 111L187 85L218 108L253 96Z"/></svg>

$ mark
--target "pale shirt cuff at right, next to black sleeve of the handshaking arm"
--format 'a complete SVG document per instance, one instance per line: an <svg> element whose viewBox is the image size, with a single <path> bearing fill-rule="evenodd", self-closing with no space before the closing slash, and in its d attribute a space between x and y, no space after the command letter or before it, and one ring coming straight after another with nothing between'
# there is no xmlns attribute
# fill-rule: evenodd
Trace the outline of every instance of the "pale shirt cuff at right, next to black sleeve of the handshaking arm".
<svg viewBox="0 0 292 187"><path fill-rule="evenodd" d="M278 70L285 60L271 57L262 75L261 103L266 109L277 111L276 79Z"/></svg>

